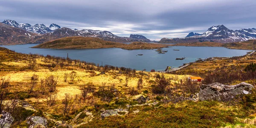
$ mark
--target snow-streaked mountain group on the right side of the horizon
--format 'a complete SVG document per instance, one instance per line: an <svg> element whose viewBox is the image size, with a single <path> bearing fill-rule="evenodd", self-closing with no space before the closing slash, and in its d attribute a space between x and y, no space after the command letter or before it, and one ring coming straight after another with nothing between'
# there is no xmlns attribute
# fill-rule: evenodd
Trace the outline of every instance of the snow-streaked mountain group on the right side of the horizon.
<svg viewBox="0 0 256 128"><path fill-rule="evenodd" d="M256 39L256 29L231 30L224 25L212 26L203 34L190 32L185 38L162 38L160 43L219 42L230 43Z"/></svg>

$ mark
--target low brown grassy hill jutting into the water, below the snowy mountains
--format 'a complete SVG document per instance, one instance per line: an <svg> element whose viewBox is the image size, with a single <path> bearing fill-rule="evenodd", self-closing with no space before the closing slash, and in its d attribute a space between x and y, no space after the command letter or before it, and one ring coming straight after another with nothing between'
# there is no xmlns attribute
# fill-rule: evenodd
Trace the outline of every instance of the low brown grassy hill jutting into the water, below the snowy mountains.
<svg viewBox="0 0 256 128"><path fill-rule="evenodd" d="M134 42L131 44L122 44L112 41L104 41L99 38L87 37L67 37L39 44L33 48L50 48L50 49L99 49L99 48L122 48L122 49L156 49L168 47L164 44L151 44Z"/></svg>

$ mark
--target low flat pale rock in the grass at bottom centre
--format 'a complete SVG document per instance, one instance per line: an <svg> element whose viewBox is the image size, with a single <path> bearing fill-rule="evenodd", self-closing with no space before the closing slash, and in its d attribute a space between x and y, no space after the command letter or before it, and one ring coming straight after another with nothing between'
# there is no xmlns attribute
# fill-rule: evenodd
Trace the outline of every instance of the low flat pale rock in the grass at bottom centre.
<svg viewBox="0 0 256 128"><path fill-rule="evenodd" d="M118 108L118 109L113 109L113 110L105 110L100 115L102 118L105 118L108 116L122 116L122 115L127 114L128 112L129 111L127 111L127 109ZM124 114L119 114L119 113L124 113Z"/></svg>

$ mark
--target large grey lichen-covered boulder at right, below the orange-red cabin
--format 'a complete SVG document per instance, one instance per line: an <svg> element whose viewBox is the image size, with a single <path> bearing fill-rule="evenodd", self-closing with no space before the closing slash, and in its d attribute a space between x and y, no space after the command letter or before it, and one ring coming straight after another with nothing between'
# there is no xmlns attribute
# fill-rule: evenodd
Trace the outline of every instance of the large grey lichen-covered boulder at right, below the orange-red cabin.
<svg viewBox="0 0 256 128"><path fill-rule="evenodd" d="M236 95L252 93L253 85L242 82L236 85L224 85L220 83L203 84L200 87L198 99L225 101L233 99Z"/></svg>

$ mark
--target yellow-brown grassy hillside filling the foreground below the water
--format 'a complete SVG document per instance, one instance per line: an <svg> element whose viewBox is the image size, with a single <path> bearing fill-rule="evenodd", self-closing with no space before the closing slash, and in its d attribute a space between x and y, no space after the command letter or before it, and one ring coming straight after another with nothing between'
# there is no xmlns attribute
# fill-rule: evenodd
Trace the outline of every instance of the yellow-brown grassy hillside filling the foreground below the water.
<svg viewBox="0 0 256 128"><path fill-rule="evenodd" d="M227 63L229 59L196 63L199 65L193 65L192 72L215 70L224 66L224 62L230 66L245 65L252 62L255 56L255 54L244 56L239 58L240 61L229 63ZM101 67L89 62L50 55L27 55L0 48L0 80L10 79L10 92L7 93L7 99L13 99L17 94L20 101L25 102L26 105L32 105L26 109L19 107L18 111L13 113L15 122L12 127L14 128L28 127L26 123L28 116L47 118L49 128L52 128L56 121L65 121L76 128L255 127L255 94L243 96L234 102L183 100L183 96L190 97L199 91L200 84L186 86L186 78L191 74L185 70L192 67L183 70L184 74L189 75L150 73L109 65ZM32 92L29 92L32 77L35 78L34 74L37 75L38 81ZM68 75L66 79L65 74ZM71 77L72 74L75 74L75 77ZM45 93L42 94L41 80L44 82L49 76L55 77L56 90L50 93L46 88ZM168 83L163 93L156 91L160 81ZM248 82L251 83L251 81ZM93 91L88 92L83 99L83 87L89 86ZM148 102L139 103L134 100L134 96L139 94L146 96ZM53 105L49 104L49 96L56 96ZM64 111L65 99L70 99L68 105L71 105L70 110L66 112ZM127 109L127 111L102 119L103 111L117 108ZM83 113L84 111L89 114ZM79 113L82 114L79 115Z"/></svg>

